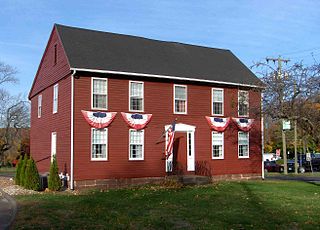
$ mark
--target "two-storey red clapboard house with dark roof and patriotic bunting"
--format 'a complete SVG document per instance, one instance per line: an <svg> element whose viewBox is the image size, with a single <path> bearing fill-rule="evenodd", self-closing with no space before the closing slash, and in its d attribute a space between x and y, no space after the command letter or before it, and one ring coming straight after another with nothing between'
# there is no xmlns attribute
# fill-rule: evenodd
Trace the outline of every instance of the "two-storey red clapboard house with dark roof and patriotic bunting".
<svg viewBox="0 0 320 230"><path fill-rule="evenodd" d="M262 87L229 50L55 25L29 94L31 155L41 173L56 155L71 189L261 177Z"/></svg>

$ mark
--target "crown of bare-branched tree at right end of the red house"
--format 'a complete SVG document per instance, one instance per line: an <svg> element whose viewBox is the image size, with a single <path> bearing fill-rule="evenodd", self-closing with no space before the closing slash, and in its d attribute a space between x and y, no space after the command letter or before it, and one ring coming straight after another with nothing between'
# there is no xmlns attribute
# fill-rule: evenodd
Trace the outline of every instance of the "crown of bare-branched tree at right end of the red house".
<svg viewBox="0 0 320 230"><path fill-rule="evenodd" d="M264 116L273 121L296 120L305 137L320 145L320 64L285 66L281 76L268 63L253 67L266 85Z"/></svg>

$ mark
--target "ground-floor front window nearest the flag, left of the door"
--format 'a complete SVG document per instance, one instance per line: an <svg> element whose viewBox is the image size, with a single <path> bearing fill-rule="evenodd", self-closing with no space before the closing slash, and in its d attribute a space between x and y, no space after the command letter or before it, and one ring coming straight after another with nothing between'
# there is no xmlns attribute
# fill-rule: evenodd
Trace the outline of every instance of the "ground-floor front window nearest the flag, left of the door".
<svg viewBox="0 0 320 230"><path fill-rule="evenodd" d="M129 160L144 159L144 130L129 130Z"/></svg>

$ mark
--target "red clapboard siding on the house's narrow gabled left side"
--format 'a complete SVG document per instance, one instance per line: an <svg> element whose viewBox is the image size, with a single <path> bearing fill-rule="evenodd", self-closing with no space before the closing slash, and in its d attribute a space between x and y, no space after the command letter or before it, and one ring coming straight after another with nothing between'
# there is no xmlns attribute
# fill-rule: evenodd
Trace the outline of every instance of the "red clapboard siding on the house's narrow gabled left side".
<svg viewBox="0 0 320 230"><path fill-rule="evenodd" d="M57 63L54 64L54 46L57 45ZM39 161L41 173L49 172L51 155L51 132L57 133L57 161L59 171L70 173L70 68L63 47L55 30L52 31L44 56L40 63L33 88L30 91L31 129L30 152ZM52 113L53 86L59 84L58 113ZM38 118L38 96L42 95L42 116Z"/></svg>

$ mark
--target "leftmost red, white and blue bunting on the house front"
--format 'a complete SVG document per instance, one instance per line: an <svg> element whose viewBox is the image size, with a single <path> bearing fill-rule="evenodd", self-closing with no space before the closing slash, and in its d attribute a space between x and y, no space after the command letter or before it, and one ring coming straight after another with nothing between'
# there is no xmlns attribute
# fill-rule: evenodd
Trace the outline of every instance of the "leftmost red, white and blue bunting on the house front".
<svg viewBox="0 0 320 230"><path fill-rule="evenodd" d="M108 127L113 119L116 117L116 112L93 112L81 110L83 117L88 124L97 129Z"/></svg>

